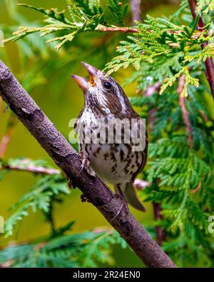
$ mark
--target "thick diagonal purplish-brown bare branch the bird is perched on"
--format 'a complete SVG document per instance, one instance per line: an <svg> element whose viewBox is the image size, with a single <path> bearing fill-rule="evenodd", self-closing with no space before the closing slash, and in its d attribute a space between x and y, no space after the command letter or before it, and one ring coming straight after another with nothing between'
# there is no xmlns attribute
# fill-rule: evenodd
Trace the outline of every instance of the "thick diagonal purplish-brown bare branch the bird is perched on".
<svg viewBox="0 0 214 282"><path fill-rule="evenodd" d="M81 189L88 201L98 208L146 266L175 267L173 261L133 217L123 198L114 194L98 176L89 175L86 169L81 171L81 159L76 151L1 61L0 92L10 109L66 173L73 186Z"/></svg>

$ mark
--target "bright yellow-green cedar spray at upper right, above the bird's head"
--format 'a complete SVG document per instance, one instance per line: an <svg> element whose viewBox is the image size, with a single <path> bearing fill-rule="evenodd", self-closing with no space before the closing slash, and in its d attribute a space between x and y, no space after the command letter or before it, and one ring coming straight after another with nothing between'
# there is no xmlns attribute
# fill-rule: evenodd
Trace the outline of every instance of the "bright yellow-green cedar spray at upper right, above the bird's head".
<svg viewBox="0 0 214 282"><path fill-rule="evenodd" d="M128 36L128 41L121 41L117 49L121 55L106 65L108 74L130 65L137 71L142 69L139 77L144 81L143 88L159 81L163 84L160 94L184 74L185 86L181 95L187 96L188 86L199 86L198 79L190 72L193 62L201 68L200 63L214 55L211 20L200 31L197 29L198 21L199 15L186 26L178 21L177 16L176 20L173 17L162 19L147 16L143 24L136 22L139 33ZM208 41L210 44L201 49L200 46ZM151 79L148 80L148 77Z"/></svg>

